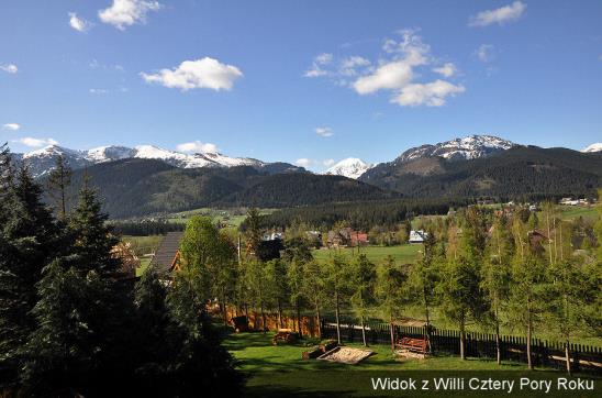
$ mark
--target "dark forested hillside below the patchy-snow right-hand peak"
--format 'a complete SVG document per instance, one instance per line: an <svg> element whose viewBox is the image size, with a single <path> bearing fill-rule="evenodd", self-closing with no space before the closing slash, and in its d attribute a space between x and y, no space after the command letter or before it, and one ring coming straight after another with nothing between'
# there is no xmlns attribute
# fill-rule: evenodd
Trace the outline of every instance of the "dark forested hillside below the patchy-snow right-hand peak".
<svg viewBox="0 0 602 398"><path fill-rule="evenodd" d="M602 185L602 155L520 146L471 161L395 161L368 170L360 180L415 198L594 197Z"/></svg>

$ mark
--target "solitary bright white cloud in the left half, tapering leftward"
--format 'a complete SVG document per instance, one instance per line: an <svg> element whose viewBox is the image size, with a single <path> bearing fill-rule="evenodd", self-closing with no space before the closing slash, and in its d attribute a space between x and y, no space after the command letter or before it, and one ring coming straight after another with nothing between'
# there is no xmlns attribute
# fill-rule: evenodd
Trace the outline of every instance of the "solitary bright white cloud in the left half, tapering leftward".
<svg viewBox="0 0 602 398"><path fill-rule="evenodd" d="M158 82L168 88L187 91L194 88L209 88L215 91L231 90L234 80L243 76L241 69L218 59L204 57L185 60L177 68L161 69L157 74L140 74L147 82Z"/></svg>

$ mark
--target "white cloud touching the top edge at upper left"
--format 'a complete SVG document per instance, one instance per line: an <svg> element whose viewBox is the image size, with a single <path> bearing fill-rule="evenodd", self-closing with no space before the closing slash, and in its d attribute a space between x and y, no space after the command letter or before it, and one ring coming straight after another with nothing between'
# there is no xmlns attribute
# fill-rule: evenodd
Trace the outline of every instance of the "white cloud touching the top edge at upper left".
<svg viewBox="0 0 602 398"><path fill-rule="evenodd" d="M104 23L123 31L126 26L145 23L149 11L158 11L163 5L158 1L113 0L113 4L98 12Z"/></svg>

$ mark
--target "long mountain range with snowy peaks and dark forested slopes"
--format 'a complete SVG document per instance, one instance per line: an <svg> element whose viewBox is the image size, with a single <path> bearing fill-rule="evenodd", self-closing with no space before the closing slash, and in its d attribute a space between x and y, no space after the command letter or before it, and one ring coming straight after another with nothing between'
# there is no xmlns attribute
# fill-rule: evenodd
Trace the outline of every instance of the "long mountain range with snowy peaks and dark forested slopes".
<svg viewBox="0 0 602 398"><path fill-rule="evenodd" d="M594 197L602 187L602 151L597 146L587 152L542 148L491 135L422 145L377 165L349 158L325 174L288 163L219 153L182 154L147 145L90 151L48 146L15 158L26 161L45 184L59 155L74 168L69 202L76 202L88 175L103 200L103 210L120 219L201 207Z"/></svg>

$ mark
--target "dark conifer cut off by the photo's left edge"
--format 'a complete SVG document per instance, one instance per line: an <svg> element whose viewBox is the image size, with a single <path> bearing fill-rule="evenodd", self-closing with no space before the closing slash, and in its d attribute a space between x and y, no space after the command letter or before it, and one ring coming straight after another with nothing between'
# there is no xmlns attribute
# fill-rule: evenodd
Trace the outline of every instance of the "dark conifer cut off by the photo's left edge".
<svg viewBox="0 0 602 398"><path fill-rule="evenodd" d="M36 284L58 247L42 189L26 167L21 167L16 178L10 174L7 178L13 183L7 186L0 206L0 367L15 372L35 327L31 311L37 301Z"/></svg>

